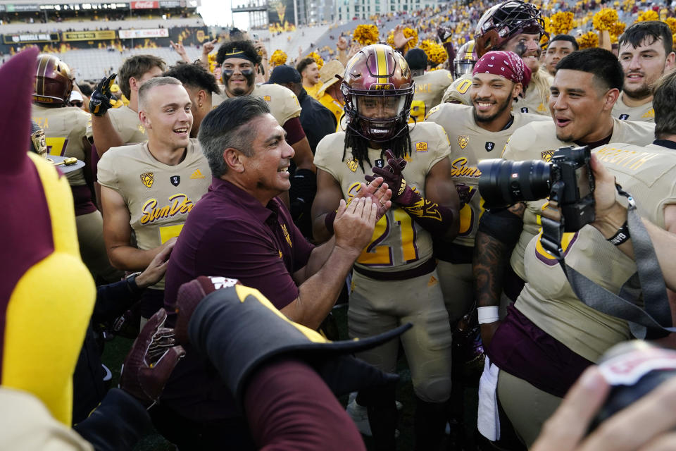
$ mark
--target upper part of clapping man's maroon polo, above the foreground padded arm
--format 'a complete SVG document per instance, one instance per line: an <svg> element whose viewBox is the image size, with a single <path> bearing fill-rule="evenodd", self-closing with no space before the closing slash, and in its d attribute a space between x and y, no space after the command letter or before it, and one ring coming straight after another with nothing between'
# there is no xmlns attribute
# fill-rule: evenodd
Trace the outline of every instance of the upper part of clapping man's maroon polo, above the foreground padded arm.
<svg viewBox="0 0 676 451"><path fill-rule="evenodd" d="M260 290L282 309L298 297L292 274L308 263L312 249L279 199L263 206L232 183L213 178L171 253L165 305L197 276L224 276Z"/></svg>

